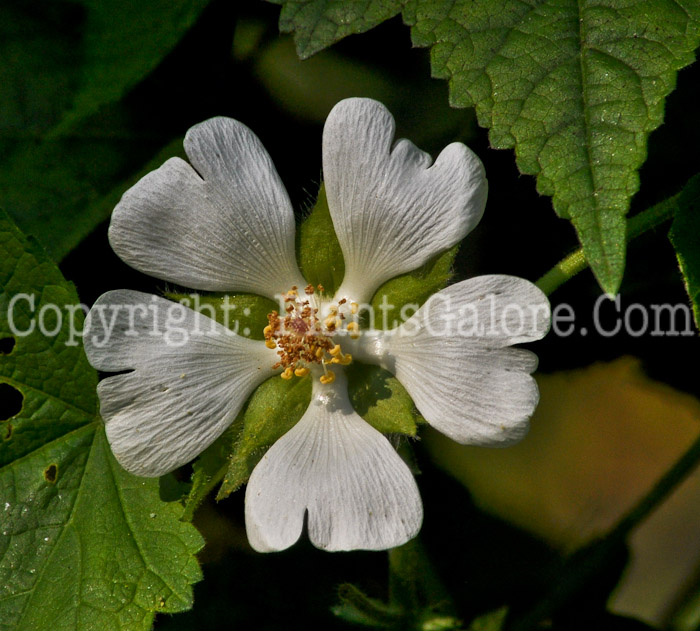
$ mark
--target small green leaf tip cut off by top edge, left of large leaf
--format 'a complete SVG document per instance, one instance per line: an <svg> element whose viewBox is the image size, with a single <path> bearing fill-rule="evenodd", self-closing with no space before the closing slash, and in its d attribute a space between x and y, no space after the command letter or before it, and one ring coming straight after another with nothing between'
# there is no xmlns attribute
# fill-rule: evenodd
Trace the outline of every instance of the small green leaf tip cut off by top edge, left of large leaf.
<svg viewBox="0 0 700 631"><path fill-rule="evenodd" d="M270 0L281 4L279 27L294 32L301 59L347 35L364 33L401 11L402 0Z"/></svg>

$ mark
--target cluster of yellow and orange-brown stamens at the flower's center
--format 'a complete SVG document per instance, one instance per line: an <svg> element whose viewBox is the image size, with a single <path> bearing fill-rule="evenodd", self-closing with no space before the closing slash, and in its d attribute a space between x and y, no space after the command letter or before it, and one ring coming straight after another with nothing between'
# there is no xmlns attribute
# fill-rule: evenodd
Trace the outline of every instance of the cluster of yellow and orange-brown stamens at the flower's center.
<svg viewBox="0 0 700 631"><path fill-rule="evenodd" d="M323 287L307 285L300 296L297 287L292 287L284 295L284 313L272 311L267 315L268 325L263 329L265 345L277 349L280 359L273 368L284 369L280 375L282 379L304 377L318 367L323 369L319 377L321 383L333 383L335 373L328 366L347 366L352 361L352 356L344 354L340 344L333 340L343 330L346 300L331 305L328 315L321 320L314 297L316 290L321 292ZM345 330L354 336L357 324L350 322Z"/></svg>

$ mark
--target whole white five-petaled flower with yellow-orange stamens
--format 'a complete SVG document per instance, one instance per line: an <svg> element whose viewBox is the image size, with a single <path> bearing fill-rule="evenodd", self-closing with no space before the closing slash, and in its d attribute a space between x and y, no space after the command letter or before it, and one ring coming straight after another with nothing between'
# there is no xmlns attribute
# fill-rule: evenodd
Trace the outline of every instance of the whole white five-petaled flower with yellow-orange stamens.
<svg viewBox="0 0 700 631"><path fill-rule="evenodd" d="M394 143L394 120L380 103L336 105L323 133L323 173L345 278L326 299L299 271L291 204L257 137L214 118L189 130L185 150L192 166L168 160L124 194L110 225L114 250L136 269L187 287L283 294L290 311L269 316L260 342L184 307L175 318L174 303L156 296L100 297L85 347L93 366L120 372L99 384L115 456L137 475L162 475L220 436L264 380L310 373L302 377L313 379L306 413L248 482L250 543L260 551L292 545L307 512L320 548L406 542L422 521L415 481L352 409L343 365L360 360L392 372L426 421L460 443L519 440L538 400L530 376L536 357L508 348L549 326L547 299L525 280L457 283L392 330L358 336L355 324L345 326L383 282L476 225L487 190L479 159L454 143L432 163L409 141ZM168 344L159 332L173 323L182 337Z"/></svg>

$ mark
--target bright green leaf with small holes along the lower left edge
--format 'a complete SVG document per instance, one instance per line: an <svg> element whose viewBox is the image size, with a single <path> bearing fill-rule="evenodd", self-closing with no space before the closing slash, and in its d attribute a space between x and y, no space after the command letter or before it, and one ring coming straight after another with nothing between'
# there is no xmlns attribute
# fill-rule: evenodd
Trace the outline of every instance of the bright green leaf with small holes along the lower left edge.
<svg viewBox="0 0 700 631"><path fill-rule="evenodd" d="M23 398L0 430L0 630L147 631L191 607L202 539L114 460L75 289L1 212L0 286L0 383ZM23 334L32 322L57 334Z"/></svg>

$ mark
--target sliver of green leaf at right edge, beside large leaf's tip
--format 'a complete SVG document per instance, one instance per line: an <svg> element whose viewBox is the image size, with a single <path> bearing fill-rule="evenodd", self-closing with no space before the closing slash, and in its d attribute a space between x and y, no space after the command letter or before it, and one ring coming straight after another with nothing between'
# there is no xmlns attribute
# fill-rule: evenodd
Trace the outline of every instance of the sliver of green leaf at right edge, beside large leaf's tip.
<svg viewBox="0 0 700 631"><path fill-rule="evenodd" d="M691 178L676 199L676 216L668 236L693 305L695 326L700 329L700 175Z"/></svg>

